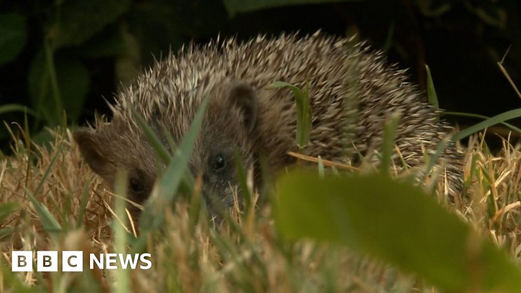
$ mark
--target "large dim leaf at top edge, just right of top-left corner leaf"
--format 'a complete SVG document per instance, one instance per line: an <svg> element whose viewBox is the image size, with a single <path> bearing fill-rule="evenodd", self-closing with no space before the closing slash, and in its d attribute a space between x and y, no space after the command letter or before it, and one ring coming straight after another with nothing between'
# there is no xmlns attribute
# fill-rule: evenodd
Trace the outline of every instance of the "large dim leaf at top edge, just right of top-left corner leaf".
<svg viewBox="0 0 521 293"><path fill-rule="evenodd" d="M114 22L131 4L131 0L65 1L60 7L59 22L48 34L55 41L55 48L80 45Z"/></svg>

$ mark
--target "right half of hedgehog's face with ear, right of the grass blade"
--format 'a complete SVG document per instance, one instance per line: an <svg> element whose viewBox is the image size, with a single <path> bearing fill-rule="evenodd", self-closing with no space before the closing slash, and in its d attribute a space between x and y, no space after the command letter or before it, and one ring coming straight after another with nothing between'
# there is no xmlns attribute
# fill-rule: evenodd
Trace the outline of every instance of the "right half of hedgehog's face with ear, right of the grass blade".
<svg viewBox="0 0 521 293"><path fill-rule="evenodd" d="M246 84L210 93L191 169L202 176L203 194L214 209L233 205L234 192L241 199L235 157L245 170L255 163L256 113L254 91Z"/></svg>

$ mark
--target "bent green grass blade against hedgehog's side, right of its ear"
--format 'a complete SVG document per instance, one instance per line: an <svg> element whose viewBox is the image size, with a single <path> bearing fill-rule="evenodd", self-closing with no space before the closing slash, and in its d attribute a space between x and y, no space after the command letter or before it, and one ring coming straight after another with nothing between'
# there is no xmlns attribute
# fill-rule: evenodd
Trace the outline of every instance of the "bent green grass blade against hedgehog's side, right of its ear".
<svg viewBox="0 0 521 293"><path fill-rule="evenodd" d="M272 88L289 88L295 96L296 103L296 144L299 149L304 149L309 142L311 133L312 111L309 106L309 86L306 84L304 91L293 86L293 84L283 81L276 81L271 84Z"/></svg>

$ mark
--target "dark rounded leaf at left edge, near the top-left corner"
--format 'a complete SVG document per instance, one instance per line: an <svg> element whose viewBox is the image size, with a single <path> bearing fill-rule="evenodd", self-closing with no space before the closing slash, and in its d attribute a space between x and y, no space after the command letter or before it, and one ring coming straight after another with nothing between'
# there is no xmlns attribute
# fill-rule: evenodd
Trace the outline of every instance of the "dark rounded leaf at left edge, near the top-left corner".
<svg viewBox="0 0 521 293"><path fill-rule="evenodd" d="M0 65L16 58L26 43L26 18L15 13L0 14Z"/></svg>

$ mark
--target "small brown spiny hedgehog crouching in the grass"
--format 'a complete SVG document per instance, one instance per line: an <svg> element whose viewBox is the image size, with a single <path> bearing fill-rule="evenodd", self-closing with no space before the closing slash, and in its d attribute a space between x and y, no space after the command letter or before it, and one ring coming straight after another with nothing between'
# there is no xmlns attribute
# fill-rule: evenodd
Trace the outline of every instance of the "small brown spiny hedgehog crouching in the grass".
<svg viewBox="0 0 521 293"><path fill-rule="evenodd" d="M396 145L407 165L419 166L425 163L424 151L435 153L451 131L438 120L439 113L425 95L408 82L405 71L389 65L380 52L317 32L304 38L258 36L245 43L228 39L181 48L177 56L170 53L117 94L110 123L96 121L95 128L79 129L74 138L86 162L109 186L114 184L116 169L125 168L130 198L142 202L151 193L158 162L131 109L168 146L164 129L180 142L203 93L208 93L190 170L202 176L206 199L211 195L231 206L238 180L235 150L244 166L257 171L260 157L272 171L295 160L287 154L297 151L294 97L288 89L274 89L275 81L309 86L313 120L303 150L308 156L355 162L358 153L379 149L384 121L398 113ZM348 95L355 96L355 104L348 104ZM356 155L346 151L346 129L354 132L347 144ZM442 158L452 193L461 185L461 158L453 144ZM257 182L259 177L255 176Z"/></svg>

